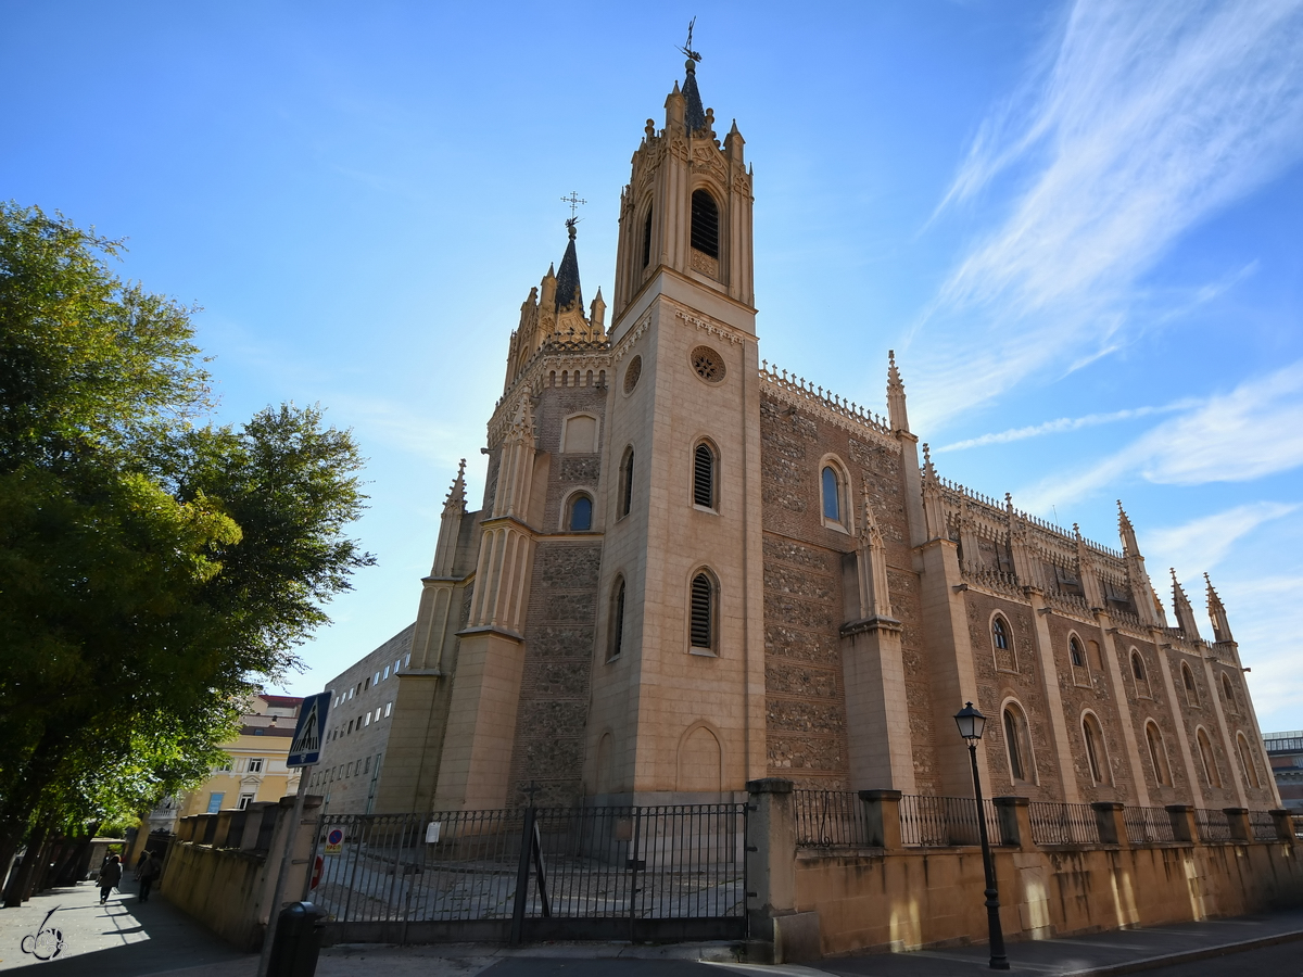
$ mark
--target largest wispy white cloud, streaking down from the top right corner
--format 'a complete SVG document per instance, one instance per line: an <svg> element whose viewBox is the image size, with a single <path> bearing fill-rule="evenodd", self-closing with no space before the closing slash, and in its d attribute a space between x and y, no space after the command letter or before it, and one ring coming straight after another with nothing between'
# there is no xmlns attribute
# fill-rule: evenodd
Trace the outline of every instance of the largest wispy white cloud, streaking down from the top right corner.
<svg viewBox="0 0 1303 977"><path fill-rule="evenodd" d="M1139 283L1171 244L1303 155L1300 63L1300 0L1072 7L942 202L1020 188L907 336L920 413L1123 345Z"/></svg>

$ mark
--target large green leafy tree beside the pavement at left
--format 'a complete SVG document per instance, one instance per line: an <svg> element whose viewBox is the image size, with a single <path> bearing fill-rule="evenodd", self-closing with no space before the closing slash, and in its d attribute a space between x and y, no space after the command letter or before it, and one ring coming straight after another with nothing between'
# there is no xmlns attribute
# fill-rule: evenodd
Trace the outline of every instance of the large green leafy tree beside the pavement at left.
<svg viewBox="0 0 1303 977"><path fill-rule="evenodd" d="M373 563L352 435L291 405L202 423L194 310L120 250L0 205L0 865L201 778Z"/></svg>

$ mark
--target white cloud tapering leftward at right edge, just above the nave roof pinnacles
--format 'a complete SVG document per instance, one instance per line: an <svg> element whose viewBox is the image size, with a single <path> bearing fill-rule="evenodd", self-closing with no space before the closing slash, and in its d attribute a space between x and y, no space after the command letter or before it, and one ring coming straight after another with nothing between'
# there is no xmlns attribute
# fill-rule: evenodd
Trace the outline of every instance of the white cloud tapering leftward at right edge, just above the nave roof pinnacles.
<svg viewBox="0 0 1303 977"><path fill-rule="evenodd" d="M1019 495L1032 512L1127 475L1160 485L1248 482L1303 465L1303 361L1157 425L1117 453Z"/></svg>

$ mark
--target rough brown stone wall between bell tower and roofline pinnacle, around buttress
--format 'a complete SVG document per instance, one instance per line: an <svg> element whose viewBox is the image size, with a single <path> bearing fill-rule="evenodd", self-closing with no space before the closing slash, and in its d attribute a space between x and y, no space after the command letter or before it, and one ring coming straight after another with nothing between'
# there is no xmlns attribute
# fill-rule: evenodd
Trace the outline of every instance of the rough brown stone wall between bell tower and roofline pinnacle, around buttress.
<svg viewBox="0 0 1303 977"><path fill-rule="evenodd" d="M915 767L928 792L934 778L932 706L900 455L764 395L760 423L769 771L797 786L855 787L847 780L839 632L856 614L842 599L843 555L855 550L855 538L823 525L820 487L820 460L835 455L850 475L856 525L866 486L885 538L893 612L904 625Z"/></svg>

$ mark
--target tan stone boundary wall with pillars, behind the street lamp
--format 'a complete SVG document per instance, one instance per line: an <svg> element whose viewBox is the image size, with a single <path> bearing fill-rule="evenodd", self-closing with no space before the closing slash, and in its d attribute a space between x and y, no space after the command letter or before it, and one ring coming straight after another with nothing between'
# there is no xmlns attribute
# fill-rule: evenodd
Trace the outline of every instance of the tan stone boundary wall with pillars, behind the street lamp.
<svg viewBox="0 0 1303 977"><path fill-rule="evenodd" d="M902 845L898 792L868 792L876 847L797 849L792 782L767 778L747 787L754 805L751 938L773 942L774 963L986 941L981 848ZM1277 840L1246 840L1247 813L1229 809L1239 840L1204 843L1194 840L1192 809L1177 805L1169 812L1184 840L1132 845L1122 805L1108 805L1098 814L1101 838L1117 842L1037 845L1024 799L1001 797L997 806L1002 834L1014 842L992 848L1010 942L1303 904L1303 866L1285 812L1273 812Z"/></svg>

